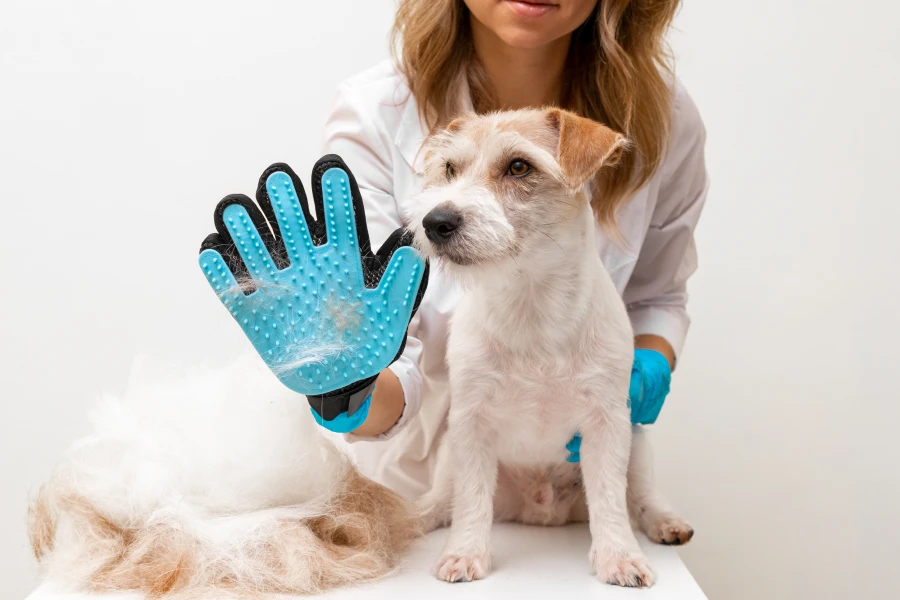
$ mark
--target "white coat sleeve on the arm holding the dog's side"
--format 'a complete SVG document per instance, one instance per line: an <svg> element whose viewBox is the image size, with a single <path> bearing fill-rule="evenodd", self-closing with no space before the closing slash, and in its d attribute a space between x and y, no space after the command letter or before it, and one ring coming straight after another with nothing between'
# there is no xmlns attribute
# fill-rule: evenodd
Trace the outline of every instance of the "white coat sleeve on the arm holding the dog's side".
<svg viewBox="0 0 900 600"><path fill-rule="evenodd" d="M697 107L678 84L659 196L623 294L634 334L662 337L676 357L690 325L687 280L697 269L694 228L708 188L705 143Z"/></svg>

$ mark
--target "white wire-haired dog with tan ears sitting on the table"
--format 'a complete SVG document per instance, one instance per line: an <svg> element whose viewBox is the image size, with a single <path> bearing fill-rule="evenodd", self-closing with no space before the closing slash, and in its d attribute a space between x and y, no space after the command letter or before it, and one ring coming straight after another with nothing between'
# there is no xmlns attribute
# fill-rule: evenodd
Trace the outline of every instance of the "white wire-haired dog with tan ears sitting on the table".
<svg viewBox="0 0 900 600"><path fill-rule="evenodd" d="M439 579L486 576L494 520L587 520L597 577L629 587L654 581L629 514L655 542L693 534L632 432L633 332L584 189L626 149L557 108L463 116L423 146L409 228L465 291L448 338L449 427L419 503L427 529L450 524ZM576 431L580 467L565 461Z"/></svg>

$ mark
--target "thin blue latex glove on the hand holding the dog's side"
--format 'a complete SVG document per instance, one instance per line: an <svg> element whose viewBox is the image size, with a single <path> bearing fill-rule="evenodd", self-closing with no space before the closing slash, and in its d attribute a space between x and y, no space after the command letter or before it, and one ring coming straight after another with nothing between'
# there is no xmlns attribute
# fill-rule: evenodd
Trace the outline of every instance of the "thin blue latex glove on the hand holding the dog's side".
<svg viewBox="0 0 900 600"><path fill-rule="evenodd" d="M656 422L663 402L669 394L672 381L672 370L669 360L656 350L637 348L634 351L634 364L631 367L631 384L628 387L628 403L631 406L631 422L650 425ZM569 462L581 460L581 435L575 436L566 444Z"/></svg>

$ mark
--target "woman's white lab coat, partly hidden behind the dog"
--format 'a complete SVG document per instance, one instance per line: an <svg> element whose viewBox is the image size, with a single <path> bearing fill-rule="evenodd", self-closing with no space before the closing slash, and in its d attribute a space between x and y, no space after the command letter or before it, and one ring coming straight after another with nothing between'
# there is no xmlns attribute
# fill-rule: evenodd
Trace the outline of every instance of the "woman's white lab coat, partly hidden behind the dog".
<svg viewBox="0 0 900 600"><path fill-rule="evenodd" d="M685 284L697 266L693 231L706 198L707 174L703 123L684 88L675 86L665 159L617 215L624 243L608 239L598 228L596 244L627 303L635 334L661 336L678 355L690 323ZM353 171L374 249L408 220L410 202L421 186L424 138L416 102L390 61L339 87L324 150L340 155ZM377 441L353 444L366 474L410 498L430 487L445 428L450 403L445 347L458 297L456 286L433 268L406 350L390 367L403 386L403 415Z"/></svg>

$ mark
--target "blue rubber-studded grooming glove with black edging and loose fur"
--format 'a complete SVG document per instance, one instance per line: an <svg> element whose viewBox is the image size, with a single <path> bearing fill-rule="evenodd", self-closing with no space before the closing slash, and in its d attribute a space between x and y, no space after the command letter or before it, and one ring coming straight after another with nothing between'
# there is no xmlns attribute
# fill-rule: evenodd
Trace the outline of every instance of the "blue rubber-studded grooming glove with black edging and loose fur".
<svg viewBox="0 0 900 600"><path fill-rule="evenodd" d="M375 379L403 352L428 265L403 229L372 252L340 157L321 158L312 179L318 219L285 164L263 173L256 203L224 198L200 266L278 379L307 397L320 425L344 433L365 421Z"/></svg>

